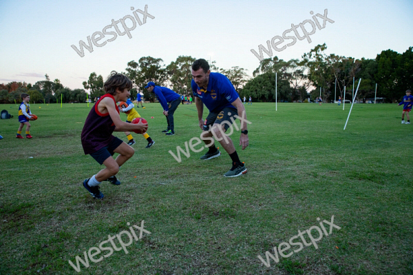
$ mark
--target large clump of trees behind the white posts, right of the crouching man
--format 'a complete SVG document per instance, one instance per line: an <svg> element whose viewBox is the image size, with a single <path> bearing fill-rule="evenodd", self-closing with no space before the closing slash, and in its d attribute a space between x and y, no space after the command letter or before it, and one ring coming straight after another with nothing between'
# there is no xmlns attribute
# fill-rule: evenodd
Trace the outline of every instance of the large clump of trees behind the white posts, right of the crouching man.
<svg viewBox="0 0 413 275"><path fill-rule="evenodd" d="M385 50L376 59L342 57L326 54L327 46L317 45L303 54L301 60L284 61L273 57L264 59L253 72L240 94L251 95L256 101L275 101L275 73L277 73L277 99L279 101L301 101L321 96L327 101L343 98L346 86L346 99L351 100L354 78L354 91L359 79L357 101L374 98L377 83L377 96L386 101L401 100L407 89L412 89L413 48L403 54ZM337 89L337 91L335 91ZM335 98L336 94L336 98Z"/></svg>

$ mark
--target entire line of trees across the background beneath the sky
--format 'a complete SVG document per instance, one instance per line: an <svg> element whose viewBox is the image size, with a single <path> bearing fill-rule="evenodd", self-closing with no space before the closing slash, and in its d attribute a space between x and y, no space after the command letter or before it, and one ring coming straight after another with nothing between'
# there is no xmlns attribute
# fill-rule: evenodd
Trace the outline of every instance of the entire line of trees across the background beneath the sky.
<svg viewBox="0 0 413 275"><path fill-rule="evenodd" d="M300 59L284 61L278 57L263 59L253 71L253 77L248 77L244 68L233 66L226 70L218 68L215 61L210 64L211 72L220 72L233 83L240 97L251 96L253 101L275 101L275 74L277 73L277 100L284 102L304 102L309 97L315 99L321 96L325 101L343 98L346 86L346 99L351 99L353 89L357 88L361 78L357 100L374 97L376 83L377 96L385 97L388 102L400 100L405 90L412 89L413 81L413 48L403 54L393 50L384 50L377 54L376 59L354 59L336 54L326 54L327 46L317 45ZM165 65L163 60L154 57L141 57L138 61L129 61L125 72L134 84L131 89L131 99L136 99L137 92L143 92L145 100L154 100L153 94L144 87L149 81L156 85L169 87L178 94L190 95L191 65L194 57L179 56L176 61ZM102 75L92 72L89 79L83 82L83 88L89 91L92 101L105 94ZM337 92L335 89L337 88ZM0 84L0 102L12 103L20 100L20 94L30 94L31 102L76 103L86 101L83 89L71 90L63 87L59 79L50 81L45 74L44 81L34 85L25 82L10 82ZM336 94L336 98L335 98Z"/></svg>

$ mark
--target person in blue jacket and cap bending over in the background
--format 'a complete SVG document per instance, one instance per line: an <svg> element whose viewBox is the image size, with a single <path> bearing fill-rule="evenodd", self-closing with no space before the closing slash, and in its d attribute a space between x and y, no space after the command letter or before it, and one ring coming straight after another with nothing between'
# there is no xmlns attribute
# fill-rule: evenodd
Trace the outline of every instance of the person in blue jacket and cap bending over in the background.
<svg viewBox="0 0 413 275"><path fill-rule="evenodd" d="M162 105L163 114L167 117L168 128L167 130L163 130L162 133L165 133L167 136L172 136L175 134L173 129L173 113L181 101L180 95L171 89L156 86L152 81L150 81L145 88L156 95L160 105Z"/></svg>

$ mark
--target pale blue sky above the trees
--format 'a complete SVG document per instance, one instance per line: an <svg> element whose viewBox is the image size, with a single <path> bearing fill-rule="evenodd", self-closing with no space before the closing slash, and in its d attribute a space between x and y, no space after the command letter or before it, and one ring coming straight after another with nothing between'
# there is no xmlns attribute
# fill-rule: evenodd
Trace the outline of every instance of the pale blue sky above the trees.
<svg viewBox="0 0 413 275"><path fill-rule="evenodd" d="M138 9L147 14L136 12ZM131 10L133 7L134 10ZM252 76L260 65L251 49L266 46L275 36L325 10L329 21L315 28L308 39L276 52L279 59L301 59L302 55L326 43L327 54L374 59L382 50L405 52L413 46L413 1L0 1L0 83L25 81L36 83L59 79L65 87L83 88L92 72L103 79L112 70L125 72L129 61L155 57L169 65L180 55L216 61L219 68L238 66ZM83 57L71 47L88 44L94 32L138 14L142 25L127 34L107 34L99 40L95 34L93 52L84 49ZM310 14L313 12L313 14ZM129 16L129 17L125 17ZM146 17L146 23L143 19ZM154 17L151 19L150 17ZM324 19L316 17L323 26ZM334 21L331 23L330 21ZM124 32L122 24L116 24ZM307 32L313 27L304 23ZM114 32L113 26L107 32ZM299 37L303 37L297 27ZM294 35L291 31L287 36ZM91 38L92 39L92 38ZM112 39L112 41L107 40ZM106 43L105 43L106 41ZM277 43L277 39L274 40ZM292 42L291 39L278 47ZM277 45L276 45L277 46ZM264 58L268 55L263 53Z"/></svg>

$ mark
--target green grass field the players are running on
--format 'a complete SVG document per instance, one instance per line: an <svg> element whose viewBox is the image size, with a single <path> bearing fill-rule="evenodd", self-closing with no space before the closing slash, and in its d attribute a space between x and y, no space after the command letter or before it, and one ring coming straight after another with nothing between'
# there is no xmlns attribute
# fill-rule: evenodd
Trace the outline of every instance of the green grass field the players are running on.
<svg viewBox="0 0 413 275"><path fill-rule="evenodd" d="M77 274L69 260L142 220L151 234L81 274L413 273L413 125L401 125L401 107L355 104L343 131L350 104L246 105L250 146L231 138L248 173L233 179L222 176L225 152L209 161L199 159L206 150L191 152L182 163L168 153L200 136L195 104L176 111L175 136L161 134L160 104L145 107L136 110L156 144L145 149L134 134L122 184L102 183L103 200L82 186L101 168L81 146L86 104L32 104L31 140L14 137L17 106L0 107L14 114L0 120L0 274ZM270 267L257 258L332 215L341 230L318 249Z"/></svg>

